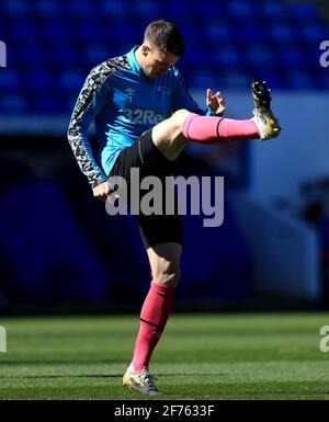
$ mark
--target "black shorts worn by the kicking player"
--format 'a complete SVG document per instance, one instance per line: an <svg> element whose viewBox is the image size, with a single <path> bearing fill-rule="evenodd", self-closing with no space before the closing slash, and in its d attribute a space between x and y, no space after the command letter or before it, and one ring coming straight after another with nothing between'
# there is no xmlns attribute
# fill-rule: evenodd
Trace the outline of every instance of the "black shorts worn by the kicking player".
<svg viewBox="0 0 329 422"><path fill-rule="evenodd" d="M170 176L173 171L174 163L167 160L167 158L158 150L152 141L152 129L145 132L135 144L123 149L111 172L110 178L120 175L131 183L131 169L139 169L140 180L148 175L155 175L162 180L162 178ZM140 199L146 192L140 191ZM163 207L164 207L163 196ZM177 203L177 201L175 201ZM182 217L174 207L173 215L144 215L137 216L141 240L145 248L155 247L163 242L175 242L182 244L183 242L183 227Z"/></svg>

